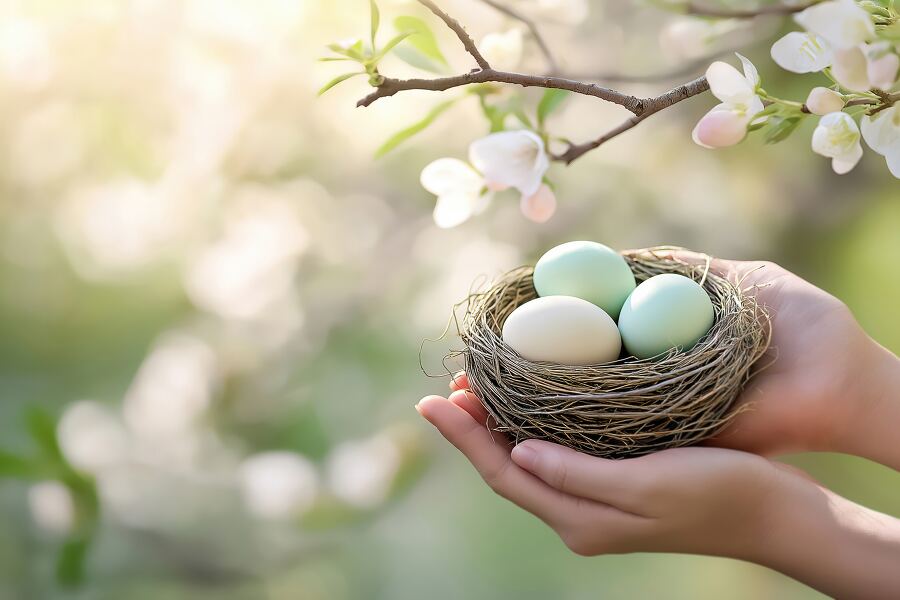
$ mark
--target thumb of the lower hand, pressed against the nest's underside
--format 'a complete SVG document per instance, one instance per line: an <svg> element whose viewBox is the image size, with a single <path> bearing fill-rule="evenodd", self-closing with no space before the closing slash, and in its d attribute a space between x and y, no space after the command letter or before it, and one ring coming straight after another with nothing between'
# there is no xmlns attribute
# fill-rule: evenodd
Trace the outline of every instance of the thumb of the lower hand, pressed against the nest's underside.
<svg viewBox="0 0 900 600"><path fill-rule="evenodd" d="M512 459L561 492L629 512L639 510L639 490L649 476L640 459L597 458L542 440L522 442Z"/></svg>

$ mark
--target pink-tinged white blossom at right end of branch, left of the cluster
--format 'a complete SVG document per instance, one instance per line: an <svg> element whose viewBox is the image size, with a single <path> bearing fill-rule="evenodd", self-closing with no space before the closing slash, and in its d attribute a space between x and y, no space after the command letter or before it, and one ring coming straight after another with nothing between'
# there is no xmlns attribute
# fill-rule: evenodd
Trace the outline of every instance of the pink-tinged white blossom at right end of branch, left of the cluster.
<svg viewBox="0 0 900 600"><path fill-rule="evenodd" d="M756 93L759 87L756 67L740 54L737 56L743 64L743 74L721 61L714 62L706 70L710 91L722 103L713 107L694 127L694 142L705 148L721 148L740 142L747 133L747 125L764 108Z"/></svg>

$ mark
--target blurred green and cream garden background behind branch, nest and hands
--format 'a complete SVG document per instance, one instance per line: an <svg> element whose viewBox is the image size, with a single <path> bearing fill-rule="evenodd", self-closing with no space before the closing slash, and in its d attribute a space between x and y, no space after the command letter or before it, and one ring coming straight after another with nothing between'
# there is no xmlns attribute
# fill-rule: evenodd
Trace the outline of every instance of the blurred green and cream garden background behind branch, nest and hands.
<svg viewBox="0 0 900 600"><path fill-rule="evenodd" d="M790 26L777 18L704 33L639 2L510 2L578 73L659 74L740 47L771 93L815 82L768 59ZM380 4L386 29L434 23ZM478 0L442 6L476 38L514 25ZM883 159L834 175L812 122L778 145L704 150L702 96L554 166L547 224L500 195L440 230L418 173L464 156L485 122L463 100L375 160L444 97L358 109L361 78L316 98L342 69L316 62L324 45L368 26L364 0L3 3L0 597L818 597L731 560L573 556L419 421L413 404L447 383L420 371L419 347L473 281L593 239L778 261L897 352L900 184ZM540 69L529 48L520 68ZM623 114L572 99L551 128L582 139ZM426 370L455 344L426 344ZM896 473L791 460L900 514Z"/></svg>

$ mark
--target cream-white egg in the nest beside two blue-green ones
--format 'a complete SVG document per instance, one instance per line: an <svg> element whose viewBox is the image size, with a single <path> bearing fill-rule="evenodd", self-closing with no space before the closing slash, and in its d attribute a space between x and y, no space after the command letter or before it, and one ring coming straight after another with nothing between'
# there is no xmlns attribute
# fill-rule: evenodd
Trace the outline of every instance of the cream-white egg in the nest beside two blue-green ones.
<svg viewBox="0 0 900 600"><path fill-rule="evenodd" d="M503 323L503 341L523 358L563 365L609 362L622 350L612 317L572 296L547 296L522 304Z"/></svg>

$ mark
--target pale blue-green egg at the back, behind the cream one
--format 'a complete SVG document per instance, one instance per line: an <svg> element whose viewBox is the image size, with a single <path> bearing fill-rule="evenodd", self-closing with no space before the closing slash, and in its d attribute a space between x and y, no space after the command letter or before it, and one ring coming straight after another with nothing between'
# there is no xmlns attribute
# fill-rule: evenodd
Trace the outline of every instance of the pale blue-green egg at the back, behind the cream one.
<svg viewBox="0 0 900 600"><path fill-rule="evenodd" d="M634 274L618 252L597 242L567 242L550 249L534 267L539 296L587 300L613 319L634 289Z"/></svg>

